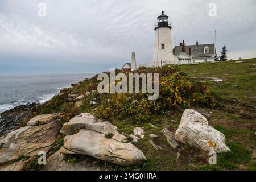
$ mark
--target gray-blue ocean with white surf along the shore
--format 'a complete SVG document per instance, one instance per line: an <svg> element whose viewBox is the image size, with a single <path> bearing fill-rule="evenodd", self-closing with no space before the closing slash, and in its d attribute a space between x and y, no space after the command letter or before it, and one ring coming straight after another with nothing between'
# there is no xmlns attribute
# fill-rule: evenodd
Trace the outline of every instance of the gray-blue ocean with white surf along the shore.
<svg viewBox="0 0 256 182"><path fill-rule="evenodd" d="M44 103L68 88L90 78L94 73L46 73L46 74L1 74L0 75L0 113L15 106L31 102Z"/></svg>

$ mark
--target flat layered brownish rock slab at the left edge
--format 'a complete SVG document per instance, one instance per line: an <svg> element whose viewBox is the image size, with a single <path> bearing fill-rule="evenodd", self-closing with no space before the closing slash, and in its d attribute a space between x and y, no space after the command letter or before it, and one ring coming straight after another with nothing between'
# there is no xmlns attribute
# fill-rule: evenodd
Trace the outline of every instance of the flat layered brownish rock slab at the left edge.
<svg viewBox="0 0 256 182"><path fill-rule="evenodd" d="M39 151L48 152L59 133L55 122L40 126L25 126L11 131L0 139L0 164L12 162L19 156L35 156Z"/></svg>

